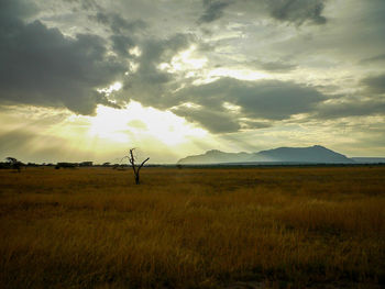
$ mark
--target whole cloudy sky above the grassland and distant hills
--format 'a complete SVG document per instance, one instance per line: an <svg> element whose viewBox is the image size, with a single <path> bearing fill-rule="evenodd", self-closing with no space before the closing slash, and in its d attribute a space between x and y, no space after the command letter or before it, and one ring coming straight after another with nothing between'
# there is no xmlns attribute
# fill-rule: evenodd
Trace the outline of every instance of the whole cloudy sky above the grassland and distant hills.
<svg viewBox="0 0 385 289"><path fill-rule="evenodd" d="M0 158L385 156L384 0L0 0Z"/></svg>

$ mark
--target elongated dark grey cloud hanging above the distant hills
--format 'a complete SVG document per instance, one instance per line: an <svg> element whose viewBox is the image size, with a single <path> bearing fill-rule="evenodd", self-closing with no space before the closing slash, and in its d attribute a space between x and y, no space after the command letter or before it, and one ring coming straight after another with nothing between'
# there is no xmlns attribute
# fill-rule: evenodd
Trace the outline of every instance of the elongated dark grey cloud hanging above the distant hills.
<svg viewBox="0 0 385 289"><path fill-rule="evenodd" d="M308 112L324 100L315 88L290 81L233 78L191 87L180 93L206 107L216 108L229 102L241 107L243 116L267 120L283 120L292 114Z"/></svg>

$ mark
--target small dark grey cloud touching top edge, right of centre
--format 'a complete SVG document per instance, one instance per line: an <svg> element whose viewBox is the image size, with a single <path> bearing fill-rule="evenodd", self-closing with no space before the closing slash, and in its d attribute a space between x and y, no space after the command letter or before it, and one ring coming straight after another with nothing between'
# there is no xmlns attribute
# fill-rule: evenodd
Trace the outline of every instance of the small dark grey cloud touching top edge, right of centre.
<svg viewBox="0 0 385 289"><path fill-rule="evenodd" d="M271 16L276 20L302 24L310 21L315 24L324 24L322 15L324 0L268 0Z"/></svg>

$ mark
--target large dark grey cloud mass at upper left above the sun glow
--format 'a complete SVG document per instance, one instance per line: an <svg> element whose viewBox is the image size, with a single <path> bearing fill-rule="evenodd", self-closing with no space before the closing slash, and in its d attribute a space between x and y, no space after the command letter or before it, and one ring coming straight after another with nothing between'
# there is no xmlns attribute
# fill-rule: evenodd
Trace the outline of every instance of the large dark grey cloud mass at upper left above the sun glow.
<svg viewBox="0 0 385 289"><path fill-rule="evenodd" d="M99 103L119 108L117 102L124 104L130 99L169 108L160 96L168 93L170 85L178 84L172 73L160 69L158 65L169 63L178 52L187 49L194 42L191 34L135 35L144 29L143 21L130 22L106 12L97 13L97 21L111 26L112 34L67 37L38 20L23 22L19 16L24 7L18 1L9 3L13 3L8 5L10 12L2 10L8 16L0 20L1 101L65 107L80 114L92 114ZM15 14L10 15L13 11ZM133 47L139 47L140 54L130 54ZM125 71L130 74L124 77ZM117 80L123 82L122 91L108 97L98 92Z"/></svg>

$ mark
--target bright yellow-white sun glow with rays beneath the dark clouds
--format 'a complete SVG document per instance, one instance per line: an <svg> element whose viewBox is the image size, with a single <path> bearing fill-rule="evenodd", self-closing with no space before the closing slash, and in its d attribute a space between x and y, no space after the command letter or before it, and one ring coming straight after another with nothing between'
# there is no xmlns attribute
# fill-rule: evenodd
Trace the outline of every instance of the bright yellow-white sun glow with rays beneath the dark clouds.
<svg viewBox="0 0 385 289"><path fill-rule="evenodd" d="M134 101L124 109L98 105L94 116L66 109L2 107L0 123L3 157L14 155L23 162L120 163L128 148L138 147L152 163L166 164L212 145L221 147L184 118ZM15 135L20 144L8 135Z"/></svg>

